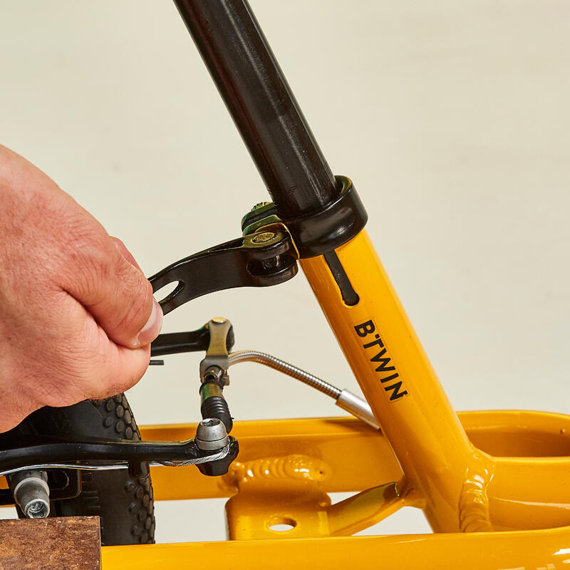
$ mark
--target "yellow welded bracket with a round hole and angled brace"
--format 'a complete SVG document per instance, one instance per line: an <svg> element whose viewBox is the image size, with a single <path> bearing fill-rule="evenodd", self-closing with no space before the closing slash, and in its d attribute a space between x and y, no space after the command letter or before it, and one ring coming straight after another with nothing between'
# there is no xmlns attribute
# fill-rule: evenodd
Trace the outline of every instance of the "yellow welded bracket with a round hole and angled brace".
<svg viewBox="0 0 570 570"><path fill-rule="evenodd" d="M307 455L237 462L226 477L236 487L226 504L229 539L350 535L417 500L392 482L331 504L323 490L330 472Z"/></svg>

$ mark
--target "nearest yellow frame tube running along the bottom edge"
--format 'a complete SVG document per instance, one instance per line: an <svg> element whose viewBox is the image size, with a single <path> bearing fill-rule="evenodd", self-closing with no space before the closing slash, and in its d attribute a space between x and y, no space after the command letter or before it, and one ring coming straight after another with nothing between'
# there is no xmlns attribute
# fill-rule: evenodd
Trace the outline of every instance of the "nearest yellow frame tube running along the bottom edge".
<svg viewBox="0 0 570 570"><path fill-rule="evenodd" d="M570 564L570 529L108 546L103 570L284 568L556 570Z"/></svg>

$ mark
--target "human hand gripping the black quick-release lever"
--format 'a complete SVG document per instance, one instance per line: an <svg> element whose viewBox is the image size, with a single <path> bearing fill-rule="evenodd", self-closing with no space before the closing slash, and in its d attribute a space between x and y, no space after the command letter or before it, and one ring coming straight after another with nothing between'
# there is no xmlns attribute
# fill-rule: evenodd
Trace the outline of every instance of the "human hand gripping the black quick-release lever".
<svg viewBox="0 0 570 570"><path fill-rule="evenodd" d="M1 145L0 198L3 432L43 405L135 385L162 311L123 242Z"/></svg>

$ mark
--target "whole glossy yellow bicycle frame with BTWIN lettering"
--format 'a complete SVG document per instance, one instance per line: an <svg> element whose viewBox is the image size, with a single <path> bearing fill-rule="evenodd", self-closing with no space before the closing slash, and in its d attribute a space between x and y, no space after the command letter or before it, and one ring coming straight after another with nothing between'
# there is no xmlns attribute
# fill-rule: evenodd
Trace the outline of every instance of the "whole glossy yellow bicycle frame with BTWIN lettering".
<svg viewBox="0 0 570 570"><path fill-rule="evenodd" d="M570 417L459 416L362 231L336 249L358 294L343 302L323 257L301 260L381 432L341 418L235 426L239 460L211 479L155 467L155 498L229 497L229 541L103 548L103 568L555 569L570 564ZM194 425L143 430L182 440ZM331 504L328 492L352 491ZM435 534L349 537L405 506ZM275 524L289 531L271 529Z"/></svg>

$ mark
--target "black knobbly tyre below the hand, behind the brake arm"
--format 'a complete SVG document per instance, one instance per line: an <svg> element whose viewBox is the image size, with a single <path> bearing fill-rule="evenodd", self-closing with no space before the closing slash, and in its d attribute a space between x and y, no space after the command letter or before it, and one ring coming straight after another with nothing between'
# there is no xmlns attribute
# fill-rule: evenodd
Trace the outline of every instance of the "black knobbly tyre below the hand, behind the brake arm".
<svg viewBox="0 0 570 570"><path fill-rule="evenodd" d="M18 429L44 435L140 440L135 418L123 394L105 400L85 400L66 408L41 408ZM150 475L135 478L128 470L81 471L81 489L78 497L51 502L49 516L97 515L103 546L154 543ZM18 511L19 517L24 517Z"/></svg>

